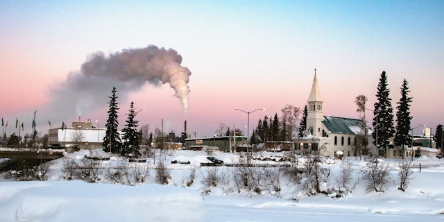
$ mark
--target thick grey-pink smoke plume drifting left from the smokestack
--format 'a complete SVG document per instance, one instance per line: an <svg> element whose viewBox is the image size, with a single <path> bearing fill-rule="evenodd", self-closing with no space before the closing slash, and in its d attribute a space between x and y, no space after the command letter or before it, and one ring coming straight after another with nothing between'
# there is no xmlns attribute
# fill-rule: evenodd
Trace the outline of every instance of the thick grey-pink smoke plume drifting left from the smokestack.
<svg viewBox="0 0 444 222"><path fill-rule="evenodd" d="M183 105L185 115L189 108L189 76L191 72L182 67L182 56L173 49L149 45L143 49L125 49L105 55L97 52L89 56L80 71L71 72L65 83L53 88L54 105L58 109L89 112L103 108L109 101L113 86L117 96L126 98L129 92L139 90L145 83L160 85L169 83Z"/></svg>

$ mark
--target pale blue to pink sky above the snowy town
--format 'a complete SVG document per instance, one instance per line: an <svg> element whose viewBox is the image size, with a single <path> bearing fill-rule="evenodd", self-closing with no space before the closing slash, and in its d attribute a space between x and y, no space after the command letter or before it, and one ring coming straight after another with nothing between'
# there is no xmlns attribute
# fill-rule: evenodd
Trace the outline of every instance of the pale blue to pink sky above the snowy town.
<svg viewBox="0 0 444 222"><path fill-rule="evenodd" d="M172 49L176 66L189 70L181 72L189 108L169 81L84 78L83 65L97 56L148 46ZM48 121L56 128L79 116L103 127L113 86L121 127L134 101L136 111L146 109L139 125L151 131L163 123L164 132L180 134L186 119L187 133L198 137L212 137L221 123L246 135L248 114L234 108L266 109L250 113L250 130L287 104L303 109L315 68L325 115L358 118L359 94L373 109L386 71L392 106L407 79L412 128L434 131L444 123L444 101L435 99L444 83L444 2L0 2L0 115L8 135L17 134L16 119L22 134L31 133L35 110L42 134Z"/></svg>

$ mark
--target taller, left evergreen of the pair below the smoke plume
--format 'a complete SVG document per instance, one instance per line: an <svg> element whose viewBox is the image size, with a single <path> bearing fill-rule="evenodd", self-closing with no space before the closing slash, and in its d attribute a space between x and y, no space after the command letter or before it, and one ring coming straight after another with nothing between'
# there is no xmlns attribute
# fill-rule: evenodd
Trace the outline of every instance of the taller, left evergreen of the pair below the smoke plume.
<svg viewBox="0 0 444 222"><path fill-rule="evenodd" d="M108 104L110 104L110 109L108 110L108 119L106 120L105 128L106 128L106 135L103 138L103 151L105 152L111 152L111 153L119 153L121 151L121 139L119 132L117 131L117 127L119 126L119 121L117 121L118 117L118 110L119 108L117 105L117 97L116 96L116 87L112 87L112 96L108 96L110 98L110 101Z"/></svg>

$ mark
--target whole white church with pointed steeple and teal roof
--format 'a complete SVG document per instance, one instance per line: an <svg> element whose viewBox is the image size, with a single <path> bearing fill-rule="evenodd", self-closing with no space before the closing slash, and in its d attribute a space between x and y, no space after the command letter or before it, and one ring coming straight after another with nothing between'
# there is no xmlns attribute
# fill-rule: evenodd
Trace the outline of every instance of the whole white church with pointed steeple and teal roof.
<svg viewBox="0 0 444 222"><path fill-rule="evenodd" d="M321 151L321 155L327 157L355 156L359 153L355 152L357 137L363 134L359 119L350 119L344 117L330 117L323 113L323 99L321 90L316 77L316 69L314 69L314 80L311 86L311 92L307 99L307 128L302 138L295 140L295 147L298 152L304 149L310 151ZM377 154L373 151L372 130L367 126L368 133L368 149L369 154Z"/></svg>

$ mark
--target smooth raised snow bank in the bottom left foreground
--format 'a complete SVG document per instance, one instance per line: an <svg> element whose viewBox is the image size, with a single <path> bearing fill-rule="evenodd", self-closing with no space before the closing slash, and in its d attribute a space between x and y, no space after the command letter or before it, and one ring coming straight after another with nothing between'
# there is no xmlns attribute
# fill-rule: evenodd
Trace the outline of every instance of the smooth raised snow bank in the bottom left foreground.
<svg viewBox="0 0 444 222"><path fill-rule="evenodd" d="M0 182L0 221L200 221L201 201L173 186Z"/></svg>

